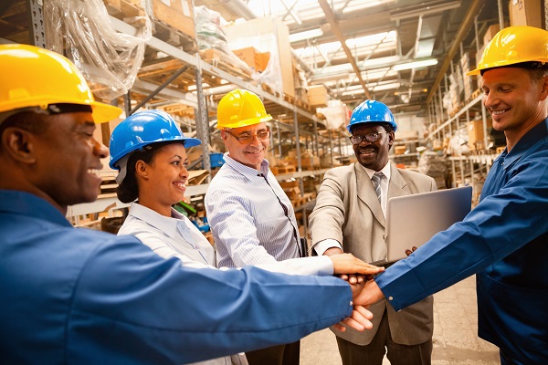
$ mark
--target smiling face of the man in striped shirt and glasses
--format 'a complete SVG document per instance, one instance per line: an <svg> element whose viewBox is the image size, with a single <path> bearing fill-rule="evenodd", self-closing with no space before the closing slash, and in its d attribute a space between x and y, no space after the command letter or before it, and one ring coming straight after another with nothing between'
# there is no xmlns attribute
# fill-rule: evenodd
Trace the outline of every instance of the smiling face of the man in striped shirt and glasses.
<svg viewBox="0 0 548 365"><path fill-rule="evenodd" d="M225 141L228 155L231 158L246 166L260 170L260 164L265 159L267 149L269 148L269 139L259 141L257 137L254 137L253 141L240 143L240 141L237 141L237 137L248 134L256 135L266 130L268 130L267 124L262 122L232 130L221 130L221 137Z"/></svg>

